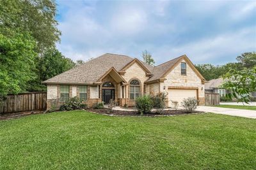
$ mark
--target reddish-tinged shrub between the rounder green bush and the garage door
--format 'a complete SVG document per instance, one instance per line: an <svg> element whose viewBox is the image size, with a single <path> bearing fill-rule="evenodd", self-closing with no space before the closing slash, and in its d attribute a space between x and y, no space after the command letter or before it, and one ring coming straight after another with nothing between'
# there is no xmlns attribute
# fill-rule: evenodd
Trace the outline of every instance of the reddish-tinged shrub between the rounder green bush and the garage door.
<svg viewBox="0 0 256 170"><path fill-rule="evenodd" d="M157 113L162 113L164 108L166 108L166 94L159 93L156 96L150 96L152 100L153 108L156 109Z"/></svg>

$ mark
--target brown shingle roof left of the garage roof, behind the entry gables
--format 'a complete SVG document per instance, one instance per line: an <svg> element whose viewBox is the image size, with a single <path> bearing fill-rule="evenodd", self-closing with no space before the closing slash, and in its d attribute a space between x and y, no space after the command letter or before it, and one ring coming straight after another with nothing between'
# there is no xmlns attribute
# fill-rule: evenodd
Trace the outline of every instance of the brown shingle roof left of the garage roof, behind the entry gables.
<svg viewBox="0 0 256 170"><path fill-rule="evenodd" d="M75 67L64 73L61 73L44 83L93 83L97 81L100 76L104 75L111 67L120 71L126 64L134 60L127 55L117 55L113 53L105 53L100 57L90 60L81 66ZM141 62L143 66L152 71L153 67L145 62Z"/></svg>

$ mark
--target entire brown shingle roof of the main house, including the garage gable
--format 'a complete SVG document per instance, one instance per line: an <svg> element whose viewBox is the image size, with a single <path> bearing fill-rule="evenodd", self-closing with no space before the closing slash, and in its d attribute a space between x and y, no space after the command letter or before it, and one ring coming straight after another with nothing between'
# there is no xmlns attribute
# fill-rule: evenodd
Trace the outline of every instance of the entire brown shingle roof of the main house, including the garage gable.
<svg viewBox="0 0 256 170"><path fill-rule="evenodd" d="M167 73L170 73L172 69L181 62L181 60L186 60L189 66L195 71L198 76L204 80L202 74L195 68L192 62L188 59L186 55L182 55L175 59L169 60L168 62L164 62L158 66L150 66L147 63L133 59L127 55L118 55L113 53L105 53L100 57L97 57L93 60L90 60L81 66L74 67L64 73L61 73L49 80L44 81L43 83L72 83L72 84L91 84L98 83L100 78L104 76L108 71L113 70L114 72L124 73L125 69L131 66L134 62L137 62L142 69L150 76L147 80L156 81L164 78Z"/></svg>

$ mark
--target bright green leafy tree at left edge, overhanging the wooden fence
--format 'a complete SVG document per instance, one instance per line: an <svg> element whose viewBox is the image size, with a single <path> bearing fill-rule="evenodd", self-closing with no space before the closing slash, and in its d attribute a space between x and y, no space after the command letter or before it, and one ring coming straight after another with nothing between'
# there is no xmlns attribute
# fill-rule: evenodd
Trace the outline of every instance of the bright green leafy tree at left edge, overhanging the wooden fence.
<svg viewBox="0 0 256 170"><path fill-rule="evenodd" d="M26 89L29 80L35 78L36 42L29 34L12 37L0 34L0 100L10 93Z"/></svg>

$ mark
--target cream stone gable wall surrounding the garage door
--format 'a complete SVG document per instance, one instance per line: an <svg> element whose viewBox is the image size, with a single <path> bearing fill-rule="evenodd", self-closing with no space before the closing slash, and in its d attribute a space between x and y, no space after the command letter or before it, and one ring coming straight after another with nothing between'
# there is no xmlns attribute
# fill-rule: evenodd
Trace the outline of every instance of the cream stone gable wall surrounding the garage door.
<svg viewBox="0 0 256 170"><path fill-rule="evenodd" d="M186 62L182 60L182 62ZM168 92L168 86L175 87L198 87L198 98L200 105L204 104L204 84L200 77L189 67L187 64L187 75L182 76L180 73L181 65L180 63L165 77L163 83L160 83L161 92ZM165 89L164 89L165 87Z"/></svg>

